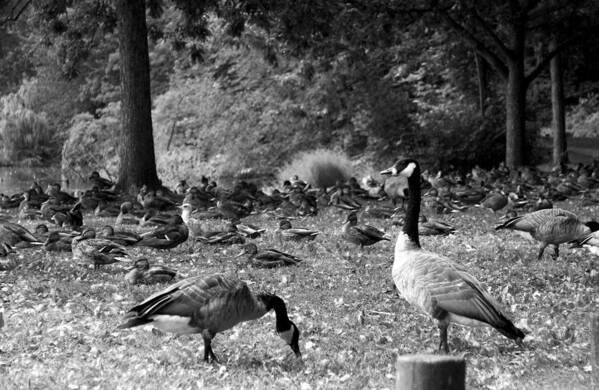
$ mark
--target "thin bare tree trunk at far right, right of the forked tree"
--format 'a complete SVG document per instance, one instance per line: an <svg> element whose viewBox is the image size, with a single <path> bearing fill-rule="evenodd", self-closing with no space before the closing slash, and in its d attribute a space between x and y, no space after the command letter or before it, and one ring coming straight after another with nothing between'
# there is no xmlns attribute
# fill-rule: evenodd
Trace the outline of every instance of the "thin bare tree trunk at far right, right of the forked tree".
<svg viewBox="0 0 599 390"><path fill-rule="evenodd" d="M551 38L549 50L555 50L557 40ZM566 145L566 114L564 109L564 78L560 53L551 59L551 107L553 111L553 165L561 166L568 162Z"/></svg>

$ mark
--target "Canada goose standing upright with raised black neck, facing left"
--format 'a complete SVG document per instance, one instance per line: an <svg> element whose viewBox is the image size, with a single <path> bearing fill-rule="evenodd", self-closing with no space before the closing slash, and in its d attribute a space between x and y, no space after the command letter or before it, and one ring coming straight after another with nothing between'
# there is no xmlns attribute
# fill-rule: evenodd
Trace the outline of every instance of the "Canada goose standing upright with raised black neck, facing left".
<svg viewBox="0 0 599 390"><path fill-rule="evenodd" d="M451 322L467 326L488 324L518 342L524 333L502 313L499 304L483 285L453 260L420 247L420 166L405 159L381 172L408 178L409 198L403 231L397 236L393 281L412 305L437 320L439 349L449 352L447 328Z"/></svg>

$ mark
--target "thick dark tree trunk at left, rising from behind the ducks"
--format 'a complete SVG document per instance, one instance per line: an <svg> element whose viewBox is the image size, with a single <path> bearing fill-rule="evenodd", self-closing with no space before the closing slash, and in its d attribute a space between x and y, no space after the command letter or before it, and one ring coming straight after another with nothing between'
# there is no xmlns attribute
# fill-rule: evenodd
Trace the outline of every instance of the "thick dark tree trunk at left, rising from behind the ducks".
<svg viewBox="0 0 599 390"><path fill-rule="evenodd" d="M121 61L120 167L117 188L160 185L152 133L150 60L144 0L116 2Z"/></svg>

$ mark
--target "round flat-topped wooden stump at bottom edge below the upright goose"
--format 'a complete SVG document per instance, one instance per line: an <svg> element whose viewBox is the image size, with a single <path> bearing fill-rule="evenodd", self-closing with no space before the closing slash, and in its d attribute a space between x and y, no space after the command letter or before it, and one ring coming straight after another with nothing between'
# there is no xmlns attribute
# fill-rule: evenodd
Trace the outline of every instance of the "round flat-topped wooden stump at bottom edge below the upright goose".
<svg viewBox="0 0 599 390"><path fill-rule="evenodd" d="M464 390L466 361L449 355L404 355L397 358L396 390Z"/></svg>

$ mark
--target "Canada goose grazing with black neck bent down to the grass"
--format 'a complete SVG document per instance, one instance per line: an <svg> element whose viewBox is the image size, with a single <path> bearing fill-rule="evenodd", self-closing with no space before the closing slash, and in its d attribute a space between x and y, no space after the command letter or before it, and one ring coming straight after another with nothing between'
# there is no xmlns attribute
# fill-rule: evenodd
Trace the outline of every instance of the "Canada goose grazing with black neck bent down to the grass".
<svg viewBox="0 0 599 390"><path fill-rule="evenodd" d="M245 282L225 275L181 280L133 307L119 328L151 323L165 332L201 333L204 360L218 362L211 346L214 336L270 310L275 311L277 333L301 357L300 332L289 320L285 302L273 294L254 294Z"/></svg>

